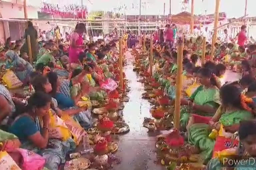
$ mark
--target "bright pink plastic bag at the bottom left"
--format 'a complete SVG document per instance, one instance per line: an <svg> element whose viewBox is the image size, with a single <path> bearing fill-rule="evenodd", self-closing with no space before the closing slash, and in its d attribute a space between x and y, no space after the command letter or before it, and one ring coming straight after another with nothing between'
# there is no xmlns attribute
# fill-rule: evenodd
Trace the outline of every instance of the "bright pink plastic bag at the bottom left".
<svg viewBox="0 0 256 170"><path fill-rule="evenodd" d="M22 155L22 170L41 170L45 165L45 159L30 150L16 148L13 152L18 152Z"/></svg>

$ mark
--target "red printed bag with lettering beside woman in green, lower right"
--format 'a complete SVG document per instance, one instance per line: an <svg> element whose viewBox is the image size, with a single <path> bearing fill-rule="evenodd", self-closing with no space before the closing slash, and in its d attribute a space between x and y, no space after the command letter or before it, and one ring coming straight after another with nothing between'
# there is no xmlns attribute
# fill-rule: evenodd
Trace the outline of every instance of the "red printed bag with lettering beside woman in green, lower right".
<svg viewBox="0 0 256 170"><path fill-rule="evenodd" d="M231 146L232 144L232 146ZM224 137L224 136L217 136L216 137L216 142L213 148L213 155L212 157L214 158L214 156L216 157L216 155L218 155L219 151L223 151L225 149L229 149L229 148L233 148L233 147L237 147L239 144L239 141L236 139L232 138L228 138L228 137Z"/></svg>

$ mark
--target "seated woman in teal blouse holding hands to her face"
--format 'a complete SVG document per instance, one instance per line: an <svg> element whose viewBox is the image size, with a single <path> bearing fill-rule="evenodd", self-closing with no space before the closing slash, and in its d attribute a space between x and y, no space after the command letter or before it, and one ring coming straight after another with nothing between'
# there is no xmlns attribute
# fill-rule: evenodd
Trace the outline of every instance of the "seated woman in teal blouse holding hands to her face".
<svg viewBox="0 0 256 170"><path fill-rule="evenodd" d="M65 163L66 154L71 146L75 146L75 143L72 139L49 140L50 102L51 97L46 93L32 94L28 100L26 112L15 118L9 127L9 132L19 138L22 148L42 155L46 159L46 168L58 170L60 163Z"/></svg>

